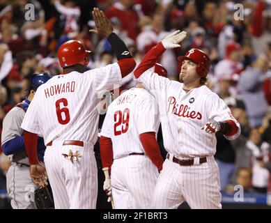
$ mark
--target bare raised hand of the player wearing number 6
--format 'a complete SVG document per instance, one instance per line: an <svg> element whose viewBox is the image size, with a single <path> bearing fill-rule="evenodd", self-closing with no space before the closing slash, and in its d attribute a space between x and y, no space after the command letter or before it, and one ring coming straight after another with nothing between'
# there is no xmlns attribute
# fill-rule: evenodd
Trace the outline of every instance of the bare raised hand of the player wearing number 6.
<svg viewBox="0 0 271 223"><path fill-rule="evenodd" d="M89 31L100 36L108 37L113 32L113 26L104 15L104 12L99 8L93 8L92 15L96 29L90 29Z"/></svg>

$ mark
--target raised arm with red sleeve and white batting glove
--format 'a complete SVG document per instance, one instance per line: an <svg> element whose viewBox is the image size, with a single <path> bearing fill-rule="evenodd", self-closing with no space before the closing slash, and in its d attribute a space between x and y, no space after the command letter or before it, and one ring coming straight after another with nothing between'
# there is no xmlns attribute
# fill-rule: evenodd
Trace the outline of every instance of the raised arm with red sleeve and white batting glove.
<svg viewBox="0 0 271 223"><path fill-rule="evenodd" d="M144 56L137 69L134 70L134 76L139 78L140 75L142 75L146 70L155 66L155 63L166 49L180 47L178 43L180 43L185 36L185 31L180 32L180 30L178 30L165 37L162 42L151 48L150 51Z"/></svg>

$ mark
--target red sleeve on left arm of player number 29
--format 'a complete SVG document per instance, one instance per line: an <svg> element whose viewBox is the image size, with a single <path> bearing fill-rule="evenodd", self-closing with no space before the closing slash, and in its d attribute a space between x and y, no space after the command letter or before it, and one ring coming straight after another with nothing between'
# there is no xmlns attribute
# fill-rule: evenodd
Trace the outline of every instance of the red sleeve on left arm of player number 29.
<svg viewBox="0 0 271 223"><path fill-rule="evenodd" d="M102 160L102 167L109 167L113 164L113 146L110 138L100 137L100 153Z"/></svg>

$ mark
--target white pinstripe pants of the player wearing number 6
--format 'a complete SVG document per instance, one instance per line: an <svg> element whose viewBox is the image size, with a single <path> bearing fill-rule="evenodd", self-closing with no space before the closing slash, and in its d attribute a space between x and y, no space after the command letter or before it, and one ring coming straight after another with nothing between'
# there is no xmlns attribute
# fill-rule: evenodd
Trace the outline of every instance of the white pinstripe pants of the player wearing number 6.
<svg viewBox="0 0 271 223"><path fill-rule="evenodd" d="M61 143L62 144L62 143ZM53 142L45 151L45 167L56 209L95 209L98 196L98 170L92 146L62 146ZM73 163L62 153L79 151Z"/></svg>

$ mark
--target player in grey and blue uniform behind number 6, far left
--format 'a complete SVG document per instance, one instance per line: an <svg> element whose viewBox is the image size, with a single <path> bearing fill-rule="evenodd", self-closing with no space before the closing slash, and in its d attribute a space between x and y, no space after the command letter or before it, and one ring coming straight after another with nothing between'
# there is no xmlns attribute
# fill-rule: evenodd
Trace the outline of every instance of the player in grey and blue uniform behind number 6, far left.
<svg viewBox="0 0 271 223"><path fill-rule="evenodd" d="M36 90L49 79L50 77L47 74L33 75L26 99L13 107L3 119L1 144L3 152L9 156L12 162L6 174L6 187L13 209L36 208L33 192L38 186L32 182L29 174L30 164L24 147L21 124ZM42 137L38 137L38 160L40 162L43 161L44 152L44 141Z"/></svg>

